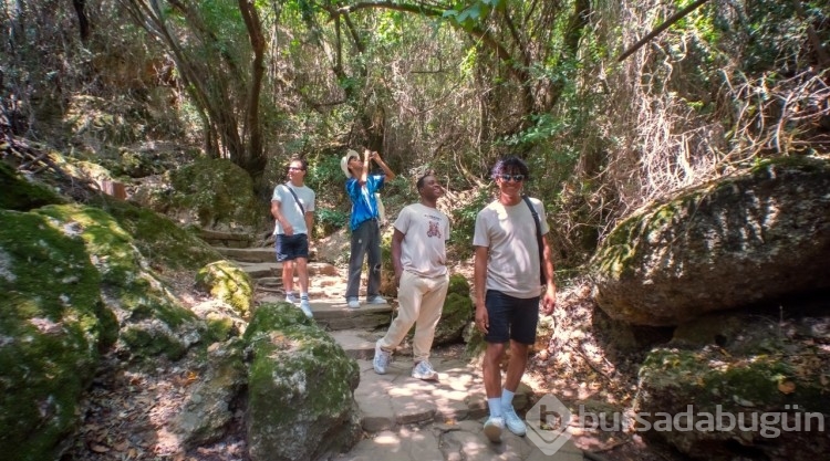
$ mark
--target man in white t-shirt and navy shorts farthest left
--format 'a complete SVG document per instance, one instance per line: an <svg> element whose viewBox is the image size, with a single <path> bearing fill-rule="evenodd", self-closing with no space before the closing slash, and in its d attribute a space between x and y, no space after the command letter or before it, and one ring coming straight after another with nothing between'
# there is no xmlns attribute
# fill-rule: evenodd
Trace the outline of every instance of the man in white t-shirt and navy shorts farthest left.
<svg viewBox="0 0 830 461"><path fill-rule="evenodd" d="M277 261L282 263L282 286L286 301L300 303L300 308L312 317L309 304L309 235L314 221L314 191L305 186L305 160L291 160L288 167L289 181L273 188L271 214L274 226ZM294 296L294 265L300 284L300 298Z"/></svg>

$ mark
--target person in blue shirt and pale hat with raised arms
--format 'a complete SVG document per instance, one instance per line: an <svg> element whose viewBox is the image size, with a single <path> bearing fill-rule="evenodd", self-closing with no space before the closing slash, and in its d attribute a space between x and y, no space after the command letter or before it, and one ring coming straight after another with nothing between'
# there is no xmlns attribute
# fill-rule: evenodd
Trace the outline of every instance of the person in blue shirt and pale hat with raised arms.
<svg viewBox="0 0 830 461"><path fill-rule="evenodd" d="M370 175L369 163L374 160L384 175ZM359 308L359 292L363 259L369 256L367 304L386 304L381 296L381 214L376 192L386 181L395 178L390 167L376 151L365 149L363 159L354 150L349 150L340 161L346 176L345 189L352 201L349 227L352 230L351 254L349 258L349 281L346 303L350 308Z"/></svg>

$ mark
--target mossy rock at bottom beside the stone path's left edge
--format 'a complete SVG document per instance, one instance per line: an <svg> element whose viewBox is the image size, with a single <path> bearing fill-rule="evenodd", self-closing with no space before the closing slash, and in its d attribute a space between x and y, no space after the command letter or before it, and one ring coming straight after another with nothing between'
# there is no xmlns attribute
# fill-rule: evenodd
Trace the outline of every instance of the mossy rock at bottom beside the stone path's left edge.
<svg viewBox="0 0 830 461"><path fill-rule="evenodd" d="M307 460L351 448L360 437L360 374L334 339L288 303L259 306L245 334L248 446L259 460Z"/></svg>

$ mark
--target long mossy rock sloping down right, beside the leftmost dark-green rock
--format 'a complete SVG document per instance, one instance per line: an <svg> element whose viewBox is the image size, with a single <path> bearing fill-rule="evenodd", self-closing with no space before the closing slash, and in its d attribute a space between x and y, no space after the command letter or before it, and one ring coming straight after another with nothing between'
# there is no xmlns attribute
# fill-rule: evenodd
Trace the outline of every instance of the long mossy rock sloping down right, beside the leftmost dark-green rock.
<svg viewBox="0 0 830 461"><path fill-rule="evenodd" d="M49 206L34 212L50 218L54 227L71 230L86 244L101 274L104 304L121 327L120 355L164 354L176 359L199 340L201 324L158 280L132 235L112 216L83 206Z"/></svg>

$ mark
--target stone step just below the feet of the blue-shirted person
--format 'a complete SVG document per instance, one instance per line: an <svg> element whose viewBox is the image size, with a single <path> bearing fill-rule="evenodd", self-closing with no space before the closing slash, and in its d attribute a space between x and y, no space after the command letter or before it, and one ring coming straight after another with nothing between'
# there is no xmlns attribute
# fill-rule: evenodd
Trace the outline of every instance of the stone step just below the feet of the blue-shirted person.
<svg viewBox="0 0 830 461"><path fill-rule="evenodd" d="M284 300L286 296L264 296L259 300L259 303L279 303ZM388 326L392 322L392 304L361 304L359 308L350 308L342 297L312 298L309 304L317 323L329 331L374 331Z"/></svg>

